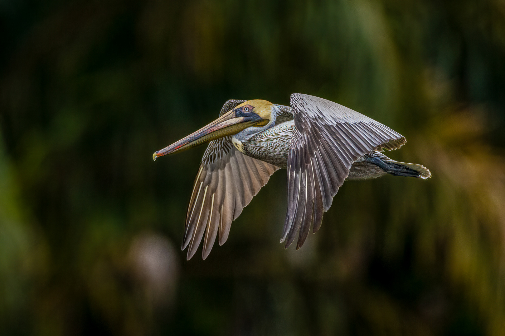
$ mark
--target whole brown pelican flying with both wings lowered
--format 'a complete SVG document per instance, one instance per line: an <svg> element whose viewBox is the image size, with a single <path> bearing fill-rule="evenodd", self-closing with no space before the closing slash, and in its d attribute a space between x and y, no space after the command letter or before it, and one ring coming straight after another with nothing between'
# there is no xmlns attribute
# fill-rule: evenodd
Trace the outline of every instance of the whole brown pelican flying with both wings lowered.
<svg viewBox="0 0 505 336"><path fill-rule="evenodd" d="M399 133L361 113L319 97L293 93L291 106L266 100L228 100L219 118L153 159L210 142L194 181L182 249L187 259L204 239L203 258L228 238L231 222L279 168L287 169L288 209L281 243L296 249L345 179L385 174L426 179L425 167L391 160L381 152L406 143ZM204 237L205 233L205 237Z"/></svg>

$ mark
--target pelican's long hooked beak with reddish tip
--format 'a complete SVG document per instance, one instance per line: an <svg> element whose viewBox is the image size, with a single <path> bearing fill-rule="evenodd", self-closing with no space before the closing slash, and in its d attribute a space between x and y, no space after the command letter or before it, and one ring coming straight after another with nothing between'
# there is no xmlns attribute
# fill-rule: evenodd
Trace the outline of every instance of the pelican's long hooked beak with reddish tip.
<svg viewBox="0 0 505 336"><path fill-rule="evenodd" d="M156 151L153 154L153 160L156 161L156 159L160 156L181 152L203 143L234 135L249 126L261 127L269 122L269 120L261 118L256 113L249 113L246 116L242 114L238 117L235 113L235 110L231 110L207 126L198 129L194 133L191 133L189 136L173 143L168 147L165 147L161 151Z"/></svg>

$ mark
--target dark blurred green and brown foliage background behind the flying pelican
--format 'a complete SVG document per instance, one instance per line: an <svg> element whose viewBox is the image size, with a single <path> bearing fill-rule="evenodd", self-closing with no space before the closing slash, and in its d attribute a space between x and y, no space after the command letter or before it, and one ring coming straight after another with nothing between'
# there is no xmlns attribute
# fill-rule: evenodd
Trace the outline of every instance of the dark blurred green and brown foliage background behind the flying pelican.
<svg viewBox="0 0 505 336"><path fill-rule="evenodd" d="M504 335L505 2L0 1L0 334ZM180 251L227 99L320 96L429 180L346 182L284 250L285 170Z"/></svg>

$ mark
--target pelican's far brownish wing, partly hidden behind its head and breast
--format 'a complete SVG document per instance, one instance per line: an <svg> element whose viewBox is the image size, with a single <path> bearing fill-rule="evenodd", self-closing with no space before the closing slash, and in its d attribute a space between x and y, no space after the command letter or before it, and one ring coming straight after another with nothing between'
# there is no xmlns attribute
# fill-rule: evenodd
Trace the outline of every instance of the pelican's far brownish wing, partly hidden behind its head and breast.
<svg viewBox="0 0 505 336"><path fill-rule="evenodd" d="M228 100L219 115L244 101ZM198 249L202 238L204 259L211 252L218 233L219 245L224 244L231 222L277 169L279 167L240 153L233 146L231 137L209 143L189 199L182 241L182 249L189 245L188 260Z"/></svg>

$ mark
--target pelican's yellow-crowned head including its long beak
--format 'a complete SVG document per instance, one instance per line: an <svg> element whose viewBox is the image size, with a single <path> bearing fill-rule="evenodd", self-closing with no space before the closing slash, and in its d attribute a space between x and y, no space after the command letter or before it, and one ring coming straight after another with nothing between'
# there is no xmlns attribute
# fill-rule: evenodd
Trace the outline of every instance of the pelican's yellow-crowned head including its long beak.
<svg viewBox="0 0 505 336"><path fill-rule="evenodd" d="M153 154L153 160L239 132L256 133L275 124L275 106L262 99L248 100L191 133L189 136Z"/></svg>

